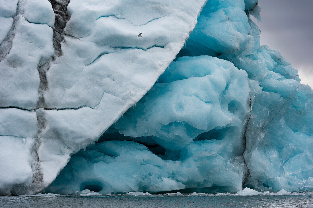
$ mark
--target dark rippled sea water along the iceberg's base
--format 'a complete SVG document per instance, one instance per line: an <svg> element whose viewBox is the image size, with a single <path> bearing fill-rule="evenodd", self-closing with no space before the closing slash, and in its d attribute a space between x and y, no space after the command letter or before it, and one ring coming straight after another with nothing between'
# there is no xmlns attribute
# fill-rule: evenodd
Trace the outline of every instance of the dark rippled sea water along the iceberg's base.
<svg viewBox="0 0 313 208"><path fill-rule="evenodd" d="M313 207L313 195L3 196L0 207Z"/></svg>

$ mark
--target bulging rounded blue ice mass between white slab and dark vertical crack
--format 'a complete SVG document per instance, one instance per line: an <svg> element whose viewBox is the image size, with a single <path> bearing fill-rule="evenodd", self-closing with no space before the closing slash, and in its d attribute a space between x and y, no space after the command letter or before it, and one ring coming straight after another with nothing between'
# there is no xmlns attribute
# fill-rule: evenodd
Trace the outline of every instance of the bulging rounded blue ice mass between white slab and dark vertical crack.
<svg viewBox="0 0 313 208"><path fill-rule="evenodd" d="M249 92L247 73L232 63L181 57L47 191L241 190Z"/></svg>

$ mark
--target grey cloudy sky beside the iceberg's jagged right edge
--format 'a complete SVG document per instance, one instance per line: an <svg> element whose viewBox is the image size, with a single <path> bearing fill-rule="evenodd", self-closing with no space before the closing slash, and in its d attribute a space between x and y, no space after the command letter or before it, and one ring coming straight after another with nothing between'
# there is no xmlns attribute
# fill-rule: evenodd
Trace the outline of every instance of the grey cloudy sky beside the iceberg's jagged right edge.
<svg viewBox="0 0 313 208"><path fill-rule="evenodd" d="M313 88L313 0L259 0L261 44L277 49Z"/></svg>

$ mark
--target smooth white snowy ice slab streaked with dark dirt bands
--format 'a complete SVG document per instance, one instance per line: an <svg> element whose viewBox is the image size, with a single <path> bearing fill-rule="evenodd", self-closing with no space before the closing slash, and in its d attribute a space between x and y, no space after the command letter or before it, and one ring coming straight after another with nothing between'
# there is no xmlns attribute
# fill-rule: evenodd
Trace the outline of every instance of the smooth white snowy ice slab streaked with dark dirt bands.
<svg viewBox="0 0 313 208"><path fill-rule="evenodd" d="M141 99L204 3L0 0L0 195L45 189Z"/></svg>

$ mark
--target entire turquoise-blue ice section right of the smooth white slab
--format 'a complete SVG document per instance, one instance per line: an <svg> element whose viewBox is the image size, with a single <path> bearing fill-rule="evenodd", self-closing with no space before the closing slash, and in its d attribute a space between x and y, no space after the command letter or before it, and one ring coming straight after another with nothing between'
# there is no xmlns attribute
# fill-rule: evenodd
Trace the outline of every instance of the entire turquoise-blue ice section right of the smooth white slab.
<svg viewBox="0 0 313 208"><path fill-rule="evenodd" d="M260 46L256 3L208 1L156 84L47 191L312 191L313 91Z"/></svg>

